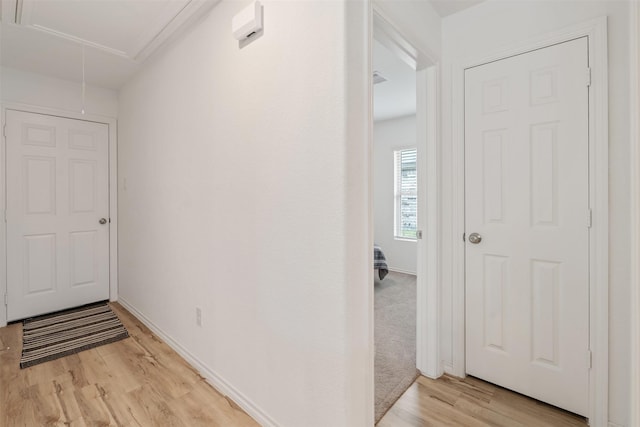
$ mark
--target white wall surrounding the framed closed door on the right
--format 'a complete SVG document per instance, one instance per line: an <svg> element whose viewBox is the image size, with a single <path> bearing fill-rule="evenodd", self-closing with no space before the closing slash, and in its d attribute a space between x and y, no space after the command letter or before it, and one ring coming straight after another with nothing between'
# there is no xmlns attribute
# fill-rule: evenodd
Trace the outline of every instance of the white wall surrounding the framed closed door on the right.
<svg viewBox="0 0 640 427"><path fill-rule="evenodd" d="M443 170L450 170L451 63L491 53L505 44L526 40L592 18L608 16L609 34L609 197L610 197L610 352L609 418L628 425L629 361L629 114L628 114L628 3L623 1L500 1L489 0L443 20ZM451 176L443 176L446 195ZM450 200L449 200L450 202ZM443 205L443 218L451 205ZM445 232L450 232L447 224ZM451 242L457 236L445 235ZM443 248L450 254L451 245ZM443 355L452 362L451 265L443 271Z"/></svg>

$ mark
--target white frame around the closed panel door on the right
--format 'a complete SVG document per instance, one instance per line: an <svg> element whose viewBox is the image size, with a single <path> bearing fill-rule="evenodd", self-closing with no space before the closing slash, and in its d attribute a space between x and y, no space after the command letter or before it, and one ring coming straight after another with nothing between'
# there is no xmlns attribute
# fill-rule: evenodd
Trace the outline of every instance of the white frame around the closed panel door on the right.
<svg viewBox="0 0 640 427"><path fill-rule="evenodd" d="M608 423L609 390L609 203L608 203L608 72L607 18L600 17L452 64L452 368L465 369L465 201L464 201L464 71L467 68L542 49L580 37L589 40L589 201L593 213L589 229L589 331L592 369L589 372L589 421ZM585 76L586 77L586 76ZM587 355L585 355L587 357Z"/></svg>

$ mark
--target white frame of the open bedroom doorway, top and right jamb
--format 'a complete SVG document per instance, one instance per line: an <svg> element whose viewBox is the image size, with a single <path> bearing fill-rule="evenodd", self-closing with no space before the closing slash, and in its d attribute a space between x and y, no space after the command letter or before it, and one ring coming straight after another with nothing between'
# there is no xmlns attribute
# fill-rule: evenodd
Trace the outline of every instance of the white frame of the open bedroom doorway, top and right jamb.
<svg viewBox="0 0 640 427"><path fill-rule="evenodd" d="M416 367L422 375L438 378L443 373L440 358L440 62L433 52L418 49L418 41L403 32L375 3L372 16L372 39L416 71L418 229L424 236L416 241ZM369 72L373 73L373 69ZM370 159L370 168L371 162ZM373 210L370 215L373 216Z"/></svg>

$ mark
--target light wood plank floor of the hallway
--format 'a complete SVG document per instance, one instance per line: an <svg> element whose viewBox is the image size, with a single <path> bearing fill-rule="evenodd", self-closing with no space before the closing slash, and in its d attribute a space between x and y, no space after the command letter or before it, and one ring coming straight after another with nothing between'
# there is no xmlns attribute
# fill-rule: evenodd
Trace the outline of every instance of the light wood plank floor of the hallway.
<svg viewBox="0 0 640 427"><path fill-rule="evenodd" d="M258 424L120 305L131 338L21 370L20 325L0 328L0 427ZM378 427L586 426L483 381L420 377Z"/></svg>

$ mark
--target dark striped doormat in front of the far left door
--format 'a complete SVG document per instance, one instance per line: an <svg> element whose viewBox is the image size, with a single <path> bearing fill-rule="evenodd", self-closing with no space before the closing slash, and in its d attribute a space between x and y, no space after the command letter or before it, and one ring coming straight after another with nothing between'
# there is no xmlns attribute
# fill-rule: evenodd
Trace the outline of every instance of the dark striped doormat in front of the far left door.
<svg viewBox="0 0 640 427"><path fill-rule="evenodd" d="M129 336L106 302L26 319L22 330L22 369Z"/></svg>

